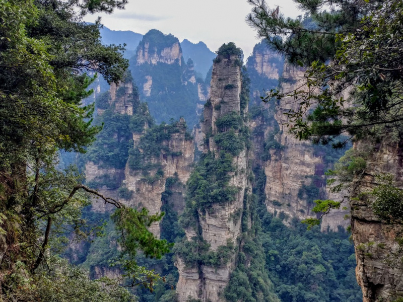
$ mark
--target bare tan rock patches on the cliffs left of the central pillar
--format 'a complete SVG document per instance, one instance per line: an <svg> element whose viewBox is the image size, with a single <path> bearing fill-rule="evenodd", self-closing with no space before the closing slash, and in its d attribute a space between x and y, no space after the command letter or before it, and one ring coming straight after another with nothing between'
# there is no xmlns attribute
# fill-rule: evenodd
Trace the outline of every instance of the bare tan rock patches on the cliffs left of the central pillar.
<svg viewBox="0 0 403 302"><path fill-rule="evenodd" d="M134 99L136 98L136 100ZM131 82L119 83L111 85L109 104L112 106L114 112L132 115L133 103L140 104L139 96L133 97L133 86ZM113 197L122 203L131 207L146 207L151 214L161 212L161 194L165 191L165 181L168 177L177 177L179 183L185 184L191 172L191 165L194 160L194 143L192 139L186 137L186 122L181 119L178 123L179 133L173 133L170 139L163 142L169 154L162 151L159 158L153 158L155 164L159 164L164 176L152 183L145 180L141 171L130 171L128 163L122 169L104 168L102 163L94 164L93 162L86 163L86 180L87 182L97 181L102 179L103 176L111 176L116 183L120 186L116 188L108 188L101 186L98 188L101 194ZM138 145L141 137L149 128L148 123L144 124L144 131L141 133L132 132L132 139L134 145ZM115 134L117 135L117 133ZM151 176L155 175L157 170L150 171ZM123 198L119 196L118 190L120 187L125 187L132 192L131 197ZM185 188L183 185L177 185L172 189L172 195L169 202L172 202L178 212L179 209L184 208L184 194ZM127 199L126 199L127 198ZM113 207L110 204L105 204L97 200L93 204L93 210L97 212L111 211ZM150 231L156 236L160 236L160 226L156 223L151 226Z"/></svg>

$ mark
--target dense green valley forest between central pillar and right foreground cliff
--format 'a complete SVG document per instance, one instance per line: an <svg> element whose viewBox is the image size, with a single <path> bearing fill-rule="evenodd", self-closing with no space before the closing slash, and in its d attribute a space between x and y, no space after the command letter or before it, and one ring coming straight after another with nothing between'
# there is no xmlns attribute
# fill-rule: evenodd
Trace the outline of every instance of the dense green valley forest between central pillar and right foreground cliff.
<svg viewBox="0 0 403 302"><path fill-rule="evenodd" d="M288 228L280 217L267 212L263 190L266 177L262 170L254 172L259 217L255 224L263 245L265 271L281 301L362 301L349 234L343 229L321 233L317 225L307 230L297 219L289 221L292 226Z"/></svg>

